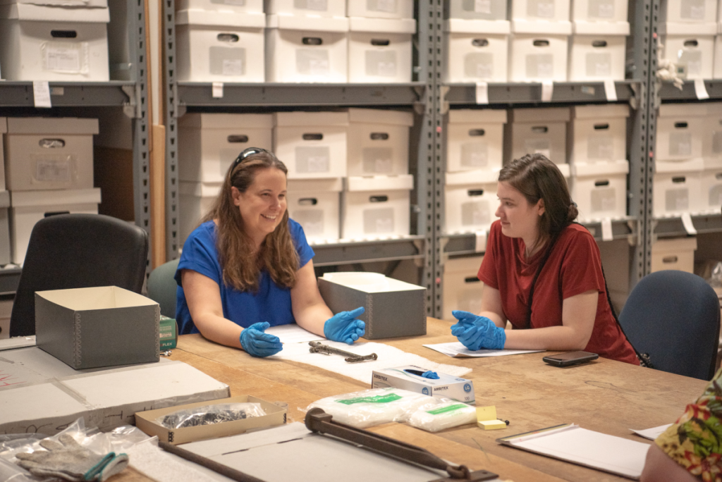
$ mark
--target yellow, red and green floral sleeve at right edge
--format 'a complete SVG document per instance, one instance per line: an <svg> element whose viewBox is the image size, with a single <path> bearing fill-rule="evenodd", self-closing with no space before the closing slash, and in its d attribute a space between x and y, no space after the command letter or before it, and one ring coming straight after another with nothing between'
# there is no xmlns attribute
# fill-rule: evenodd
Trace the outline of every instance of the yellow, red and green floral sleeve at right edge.
<svg viewBox="0 0 722 482"><path fill-rule="evenodd" d="M705 482L722 482L722 369L677 423L654 441L669 457Z"/></svg>

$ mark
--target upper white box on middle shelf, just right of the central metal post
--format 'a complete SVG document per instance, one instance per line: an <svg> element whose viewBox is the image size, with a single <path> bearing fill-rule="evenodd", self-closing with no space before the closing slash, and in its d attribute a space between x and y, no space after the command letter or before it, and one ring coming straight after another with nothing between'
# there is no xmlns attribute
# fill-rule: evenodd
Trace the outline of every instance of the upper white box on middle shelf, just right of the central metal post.
<svg viewBox="0 0 722 482"><path fill-rule="evenodd" d="M450 110L446 171L500 170L506 110Z"/></svg>

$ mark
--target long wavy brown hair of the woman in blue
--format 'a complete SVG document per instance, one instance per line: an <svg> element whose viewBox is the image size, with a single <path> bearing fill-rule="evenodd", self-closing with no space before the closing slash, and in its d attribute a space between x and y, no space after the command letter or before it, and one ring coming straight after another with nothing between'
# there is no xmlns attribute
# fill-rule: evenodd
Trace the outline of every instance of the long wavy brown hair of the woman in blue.
<svg viewBox="0 0 722 482"><path fill-rule="evenodd" d="M245 152L252 153L244 157ZM202 222L216 221L216 248L223 271L223 282L241 292L257 292L261 268L266 268L279 286L292 288L299 260L288 230L288 210L279 225L266 236L254 255L255 245L243 227L243 217L233 203L231 188L241 193L253 184L259 170L288 169L273 153L264 149L246 149L228 168L218 197Z"/></svg>

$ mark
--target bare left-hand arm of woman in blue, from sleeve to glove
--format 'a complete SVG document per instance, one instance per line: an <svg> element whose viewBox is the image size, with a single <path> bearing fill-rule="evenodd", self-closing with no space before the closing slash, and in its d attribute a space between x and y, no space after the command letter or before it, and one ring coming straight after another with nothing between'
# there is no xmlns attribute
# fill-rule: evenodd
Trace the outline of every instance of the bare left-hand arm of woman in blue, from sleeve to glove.
<svg viewBox="0 0 722 482"><path fill-rule="evenodd" d="M184 269L181 273L183 292L193 324L205 338L234 348L241 348L239 325L223 317L218 284L197 271Z"/></svg>

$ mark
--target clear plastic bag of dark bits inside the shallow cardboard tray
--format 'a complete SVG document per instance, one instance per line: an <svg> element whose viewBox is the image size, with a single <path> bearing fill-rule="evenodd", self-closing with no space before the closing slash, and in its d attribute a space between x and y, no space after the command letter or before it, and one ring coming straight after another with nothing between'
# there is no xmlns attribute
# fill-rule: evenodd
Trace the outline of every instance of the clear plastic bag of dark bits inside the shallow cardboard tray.
<svg viewBox="0 0 722 482"><path fill-rule="evenodd" d="M260 403L218 403L168 413L155 419L155 422L168 429L182 429L187 426L220 424L264 415L266 411L261 408Z"/></svg>

